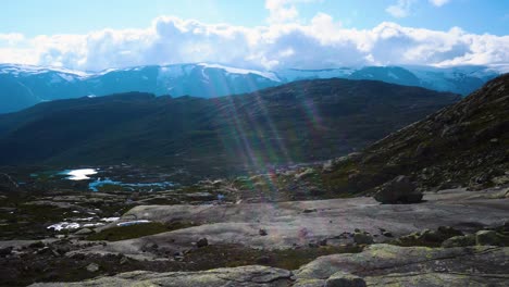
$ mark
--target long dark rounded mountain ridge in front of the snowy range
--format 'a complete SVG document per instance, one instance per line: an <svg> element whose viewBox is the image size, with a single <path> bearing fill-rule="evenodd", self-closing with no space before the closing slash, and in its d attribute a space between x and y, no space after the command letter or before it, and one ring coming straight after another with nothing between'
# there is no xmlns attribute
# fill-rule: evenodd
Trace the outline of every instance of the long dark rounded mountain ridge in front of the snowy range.
<svg viewBox="0 0 509 287"><path fill-rule="evenodd" d="M303 80L215 99L124 93L0 116L0 164L264 170L338 157L459 100L371 80Z"/></svg>

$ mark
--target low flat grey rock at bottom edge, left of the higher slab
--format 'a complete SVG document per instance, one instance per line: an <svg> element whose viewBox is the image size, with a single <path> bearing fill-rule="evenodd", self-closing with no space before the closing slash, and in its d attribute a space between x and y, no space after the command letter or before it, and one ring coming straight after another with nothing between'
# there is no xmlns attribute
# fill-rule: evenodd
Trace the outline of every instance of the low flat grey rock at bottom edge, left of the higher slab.
<svg viewBox="0 0 509 287"><path fill-rule="evenodd" d="M153 273L135 271L87 282L46 283L34 284L32 286L288 286L290 276L291 273L286 270L252 265L202 272Z"/></svg>

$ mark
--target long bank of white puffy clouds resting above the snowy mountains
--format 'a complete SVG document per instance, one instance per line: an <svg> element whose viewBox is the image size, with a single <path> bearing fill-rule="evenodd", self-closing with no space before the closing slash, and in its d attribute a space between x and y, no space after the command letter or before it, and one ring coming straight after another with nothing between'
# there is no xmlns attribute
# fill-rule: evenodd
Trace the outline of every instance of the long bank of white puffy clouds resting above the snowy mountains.
<svg viewBox="0 0 509 287"><path fill-rule="evenodd" d="M99 71L147 64L215 62L276 70L396 64L502 64L509 36L432 30L384 22L345 28L325 13L309 23L244 27L161 16L145 29L86 35L0 34L0 62Z"/></svg>

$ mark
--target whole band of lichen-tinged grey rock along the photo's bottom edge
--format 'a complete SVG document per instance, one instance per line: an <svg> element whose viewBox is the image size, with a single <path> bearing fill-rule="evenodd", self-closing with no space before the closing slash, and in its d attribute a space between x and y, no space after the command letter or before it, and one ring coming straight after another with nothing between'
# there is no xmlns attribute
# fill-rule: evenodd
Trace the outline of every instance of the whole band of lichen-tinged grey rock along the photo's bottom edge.
<svg viewBox="0 0 509 287"><path fill-rule="evenodd" d="M426 248L372 245L290 272L259 265L201 272L136 271L79 283L32 286L508 286L509 248Z"/></svg>

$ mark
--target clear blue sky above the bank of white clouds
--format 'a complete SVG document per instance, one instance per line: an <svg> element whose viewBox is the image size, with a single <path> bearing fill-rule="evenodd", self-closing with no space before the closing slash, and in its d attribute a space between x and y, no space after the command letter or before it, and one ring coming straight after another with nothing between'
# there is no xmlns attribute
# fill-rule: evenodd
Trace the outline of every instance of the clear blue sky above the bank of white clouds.
<svg viewBox="0 0 509 287"><path fill-rule="evenodd" d="M450 0L440 7L430 1L413 2L408 16L394 17L386 8L397 0L300 1L301 21L326 12L346 27L372 28L384 21L404 26L449 29L459 26L475 34L507 35L509 1ZM265 24L269 11L260 0L16 0L2 3L0 32L76 34L102 28L142 28L160 15L195 18L204 23L257 26Z"/></svg>

